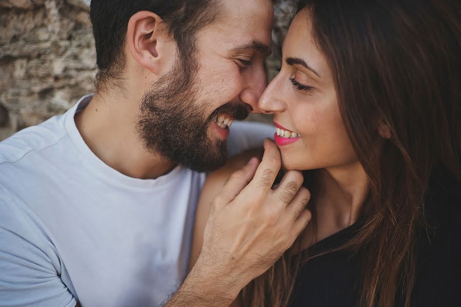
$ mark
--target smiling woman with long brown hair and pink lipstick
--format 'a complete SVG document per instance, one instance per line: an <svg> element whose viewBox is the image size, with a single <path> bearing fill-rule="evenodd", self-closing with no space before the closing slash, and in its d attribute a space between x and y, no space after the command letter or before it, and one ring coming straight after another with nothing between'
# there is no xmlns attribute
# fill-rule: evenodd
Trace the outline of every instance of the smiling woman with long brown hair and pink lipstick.
<svg viewBox="0 0 461 307"><path fill-rule="evenodd" d="M452 306L461 287L458 1L298 3L259 102L312 221L234 304ZM240 158L244 160L244 158ZM243 161L211 174L210 200Z"/></svg>

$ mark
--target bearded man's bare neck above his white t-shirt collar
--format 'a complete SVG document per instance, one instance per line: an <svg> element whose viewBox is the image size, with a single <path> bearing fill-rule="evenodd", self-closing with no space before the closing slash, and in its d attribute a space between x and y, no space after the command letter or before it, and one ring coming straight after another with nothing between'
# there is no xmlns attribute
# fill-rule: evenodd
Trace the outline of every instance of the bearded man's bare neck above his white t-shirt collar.
<svg viewBox="0 0 461 307"><path fill-rule="evenodd" d="M155 179L175 165L148 151L136 129L141 97L96 93L75 115L81 137L104 163L133 178Z"/></svg>

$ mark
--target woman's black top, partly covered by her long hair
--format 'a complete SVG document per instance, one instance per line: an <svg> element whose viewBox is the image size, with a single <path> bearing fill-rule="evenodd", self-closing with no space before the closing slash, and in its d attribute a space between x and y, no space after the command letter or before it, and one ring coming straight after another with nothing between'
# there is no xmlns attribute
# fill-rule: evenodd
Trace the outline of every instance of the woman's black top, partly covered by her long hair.
<svg viewBox="0 0 461 307"><path fill-rule="evenodd" d="M458 183L439 182L439 189L426 195L429 220L435 230L421 230L418 240L416 279L411 296L414 307L461 306L461 188ZM341 247L358 230L356 223L313 246L320 254ZM302 265L290 306L355 307L361 289L362 254L331 252ZM401 293L401 291L399 291ZM404 305L396 294L395 306Z"/></svg>

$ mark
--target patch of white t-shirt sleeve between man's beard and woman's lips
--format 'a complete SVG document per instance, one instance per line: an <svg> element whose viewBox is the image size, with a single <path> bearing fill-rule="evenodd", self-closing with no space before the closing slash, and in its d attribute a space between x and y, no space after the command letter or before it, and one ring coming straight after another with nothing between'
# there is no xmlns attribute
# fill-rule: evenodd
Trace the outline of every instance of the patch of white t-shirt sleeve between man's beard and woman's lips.
<svg viewBox="0 0 461 307"><path fill-rule="evenodd" d="M274 138L275 127L259 122L234 122L231 133L227 139L227 150L229 156L238 155L248 149L262 148L264 139Z"/></svg>

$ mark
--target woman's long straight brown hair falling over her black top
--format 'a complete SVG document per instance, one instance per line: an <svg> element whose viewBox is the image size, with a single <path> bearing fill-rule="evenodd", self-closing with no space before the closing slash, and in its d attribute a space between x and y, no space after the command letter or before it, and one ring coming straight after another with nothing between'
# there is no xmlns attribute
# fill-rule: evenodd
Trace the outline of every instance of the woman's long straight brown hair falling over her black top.
<svg viewBox="0 0 461 307"><path fill-rule="evenodd" d="M391 307L399 296L408 307L432 183L461 182L459 1L299 1L296 13L303 9L369 182L363 226L342 247L363 255L358 304ZM391 132L384 147L376 142L379 124ZM243 290L245 306L288 305L308 260L295 249Z"/></svg>

